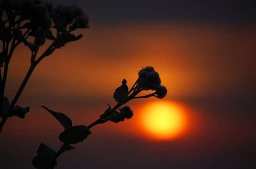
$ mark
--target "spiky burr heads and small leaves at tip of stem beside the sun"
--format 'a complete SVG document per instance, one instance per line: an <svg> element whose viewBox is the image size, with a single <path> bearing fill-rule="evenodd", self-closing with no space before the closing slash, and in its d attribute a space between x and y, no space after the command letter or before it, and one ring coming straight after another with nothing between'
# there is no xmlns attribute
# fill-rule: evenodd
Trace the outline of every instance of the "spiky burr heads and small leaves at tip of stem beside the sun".
<svg viewBox="0 0 256 169"><path fill-rule="evenodd" d="M137 98L148 98L148 97L157 97L162 99L167 94L167 89L165 86L161 85L161 79L158 72L152 66L146 66L139 71L139 77L134 83L133 87L128 89L126 85L126 80L122 80L122 85L118 87L113 98L118 102L116 106L125 104L127 101ZM138 96L142 91L153 90L154 92L145 96ZM100 116L100 123L105 123L106 121L112 121L115 123L124 121L124 119L130 119L133 117L133 111L129 106L124 106L119 111L116 111L116 107L105 110L104 114Z"/></svg>

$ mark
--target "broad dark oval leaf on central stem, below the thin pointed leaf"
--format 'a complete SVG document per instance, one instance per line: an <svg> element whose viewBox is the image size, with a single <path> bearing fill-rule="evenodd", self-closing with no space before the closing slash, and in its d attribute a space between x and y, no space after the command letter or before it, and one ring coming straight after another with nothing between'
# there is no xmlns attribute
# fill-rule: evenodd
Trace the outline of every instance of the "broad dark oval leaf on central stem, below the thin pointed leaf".
<svg viewBox="0 0 256 169"><path fill-rule="evenodd" d="M91 131L83 125L73 126L59 134L59 140L65 144L76 144L82 142L91 134Z"/></svg>

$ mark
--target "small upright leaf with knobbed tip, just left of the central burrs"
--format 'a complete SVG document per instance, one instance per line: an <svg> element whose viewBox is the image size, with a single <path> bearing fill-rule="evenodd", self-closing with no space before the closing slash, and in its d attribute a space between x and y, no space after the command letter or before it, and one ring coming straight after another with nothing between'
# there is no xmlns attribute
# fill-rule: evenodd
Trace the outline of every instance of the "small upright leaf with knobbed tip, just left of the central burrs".
<svg viewBox="0 0 256 169"><path fill-rule="evenodd" d="M123 79L122 85L118 87L115 92L113 98L118 102L118 103L126 103L127 98L128 98L128 87L126 85L126 80Z"/></svg>

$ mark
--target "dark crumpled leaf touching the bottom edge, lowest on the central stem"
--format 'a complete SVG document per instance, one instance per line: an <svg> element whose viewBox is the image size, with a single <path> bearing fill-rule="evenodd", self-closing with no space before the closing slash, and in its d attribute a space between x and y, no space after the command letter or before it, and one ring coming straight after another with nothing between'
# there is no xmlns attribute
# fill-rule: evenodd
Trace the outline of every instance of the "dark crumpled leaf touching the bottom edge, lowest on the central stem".
<svg viewBox="0 0 256 169"><path fill-rule="evenodd" d="M56 152L54 150L46 146L44 143L41 143L37 150L37 156L32 160L32 164L38 169L45 169L55 154ZM57 165L57 161L54 161L53 165Z"/></svg>

